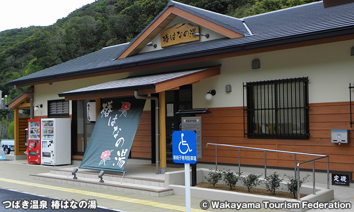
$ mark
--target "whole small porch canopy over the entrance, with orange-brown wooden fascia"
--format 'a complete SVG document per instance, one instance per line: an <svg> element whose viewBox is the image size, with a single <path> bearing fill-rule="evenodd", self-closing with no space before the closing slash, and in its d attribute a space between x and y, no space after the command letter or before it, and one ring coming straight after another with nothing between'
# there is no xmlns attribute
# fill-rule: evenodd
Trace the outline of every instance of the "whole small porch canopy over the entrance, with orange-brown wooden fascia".
<svg viewBox="0 0 354 212"><path fill-rule="evenodd" d="M66 100L159 93L220 74L220 66L147 76L128 77L59 93Z"/></svg>

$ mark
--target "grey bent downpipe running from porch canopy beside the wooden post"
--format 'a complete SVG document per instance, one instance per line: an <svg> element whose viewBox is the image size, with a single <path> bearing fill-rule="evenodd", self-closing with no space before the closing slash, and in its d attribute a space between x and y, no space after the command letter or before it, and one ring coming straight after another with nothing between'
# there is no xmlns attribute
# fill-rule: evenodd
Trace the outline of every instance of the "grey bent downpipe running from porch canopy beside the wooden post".
<svg viewBox="0 0 354 212"><path fill-rule="evenodd" d="M160 174L160 161L159 161L159 99L156 96L140 96L138 95L138 90L134 91L134 96L137 99L150 99L155 100L155 155L156 155L156 174Z"/></svg>

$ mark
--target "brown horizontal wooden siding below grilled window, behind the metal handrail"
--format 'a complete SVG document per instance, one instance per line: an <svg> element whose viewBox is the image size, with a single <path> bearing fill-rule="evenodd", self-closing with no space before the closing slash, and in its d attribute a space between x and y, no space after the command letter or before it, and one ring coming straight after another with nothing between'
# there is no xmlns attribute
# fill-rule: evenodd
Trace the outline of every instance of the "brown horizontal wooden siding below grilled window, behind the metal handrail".
<svg viewBox="0 0 354 212"><path fill-rule="evenodd" d="M331 130L349 130L350 139L354 139L354 130L350 128L349 102L328 102L310 104L308 140L248 139L243 134L243 107L211 108L212 113L202 116L203 158L199 161L215 163L215 146L206 143L249 146L277 149L283 151L327 154L330 170L354 172L354 142L338 145L331 143ZM245 117L245 121L247 118ZM245 127L247 123L245 123ZM247 132L247 129L245 129ZM217 148L217 162L238 164L238 149ZM297 155L297 163L310 160L314 156ZM267 165L276 167L294 167L294 154L267 153ZM315 163L316 169L327 170L327 160ZM264 152L241 150L241 164L264 166ZM312 169L312 163L301 168Z"/></svg>

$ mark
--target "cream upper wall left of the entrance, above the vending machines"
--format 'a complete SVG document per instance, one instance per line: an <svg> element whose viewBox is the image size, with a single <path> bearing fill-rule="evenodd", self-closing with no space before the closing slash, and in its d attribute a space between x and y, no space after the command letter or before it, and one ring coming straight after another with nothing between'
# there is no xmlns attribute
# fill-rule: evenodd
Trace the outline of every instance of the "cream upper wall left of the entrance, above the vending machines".
<svg viewBox="0 0 354 212"><path fill-rule="evenodd" d="M62 82L53 82L52 85L40 84L34 86L34 107L37 104L43 104L43 108L34 112L34 116L47 116L48 115L48 100L64 99L59 97L58 93L71 91L78 88L83 88L91 85L96 85L103 82L122 79L128 76L128 73L105 75L100 77L90 77L77 80L68 80ZM150 101L145 103L144 111L150 111ZM69 101L69 114L72 114L71 101Z"/></svg>

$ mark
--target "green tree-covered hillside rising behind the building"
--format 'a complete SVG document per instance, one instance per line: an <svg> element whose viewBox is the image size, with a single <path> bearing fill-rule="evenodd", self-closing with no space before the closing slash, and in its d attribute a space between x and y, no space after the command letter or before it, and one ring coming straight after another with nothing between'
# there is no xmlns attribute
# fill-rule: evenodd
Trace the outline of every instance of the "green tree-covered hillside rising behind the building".
<svg viewBox="0 0 354 212"><path fill-rule="evenodd" d="M178 0L236 18L271 12L315 0ZM131 41L167 5L167 0L98 0L47 27L0 32L0 90L8 100L19 93L13 79L64 63L106 46Z"/></svg>

